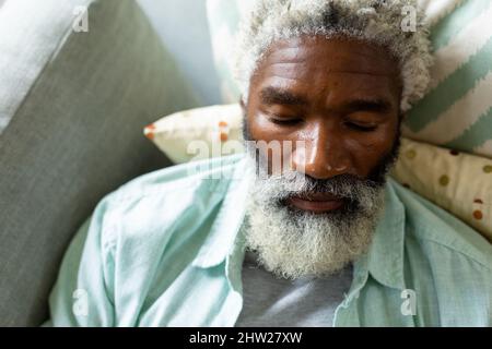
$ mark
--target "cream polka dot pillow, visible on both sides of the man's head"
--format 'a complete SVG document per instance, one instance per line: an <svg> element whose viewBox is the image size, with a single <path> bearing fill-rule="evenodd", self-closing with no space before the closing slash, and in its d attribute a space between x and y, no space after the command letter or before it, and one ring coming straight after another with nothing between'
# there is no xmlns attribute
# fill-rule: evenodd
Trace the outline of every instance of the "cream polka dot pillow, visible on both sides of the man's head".
<svg viewBox="0 0 492 349"><path fill-rule="evenodd" d="M238 105L213 106L164 117L144 134L180 164L244 152L242 120ZM391 176L492 242L492 159L402 139Z"/></svg>

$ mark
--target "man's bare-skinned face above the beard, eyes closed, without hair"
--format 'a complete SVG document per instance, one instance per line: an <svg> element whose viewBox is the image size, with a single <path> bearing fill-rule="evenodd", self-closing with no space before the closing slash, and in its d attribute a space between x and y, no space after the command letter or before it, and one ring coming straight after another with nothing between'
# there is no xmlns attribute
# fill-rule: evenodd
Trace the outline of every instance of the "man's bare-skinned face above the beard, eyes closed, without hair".
<svg viewBox="0 0 492 349"><path fill-rule="evenodd" d="M294 149L291 163L312 178L371 178L398 134L398 76L396 61L373 45L320 37L277 43L251 80L249 135L305 141L305 155Z"/></svg>

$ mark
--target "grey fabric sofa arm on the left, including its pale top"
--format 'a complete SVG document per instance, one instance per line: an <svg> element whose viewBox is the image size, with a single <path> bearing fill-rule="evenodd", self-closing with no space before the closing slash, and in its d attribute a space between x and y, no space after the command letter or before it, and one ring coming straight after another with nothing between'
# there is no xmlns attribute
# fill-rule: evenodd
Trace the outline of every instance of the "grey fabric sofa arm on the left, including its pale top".
<svg viewBox="0 0 492 349"><path fill-rule="evenodd" d="M75 33L81 4L89 32ZM196 103L132 0L8 0L0 16L17 22L0 29L0 326L38 325L97 201L169 164L140 130Z"/></svg>

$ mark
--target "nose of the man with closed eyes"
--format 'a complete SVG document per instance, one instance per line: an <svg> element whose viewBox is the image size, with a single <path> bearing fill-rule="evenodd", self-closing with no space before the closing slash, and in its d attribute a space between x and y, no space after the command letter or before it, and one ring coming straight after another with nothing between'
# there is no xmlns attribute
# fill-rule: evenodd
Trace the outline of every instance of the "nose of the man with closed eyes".
<svg viewBox="0 0 492 349"><path fill-rule="evenodd" d="M328 179L351 170L351 159L340 137L323 128L301 142L292 154L294 170L316 179Z"/></svg>

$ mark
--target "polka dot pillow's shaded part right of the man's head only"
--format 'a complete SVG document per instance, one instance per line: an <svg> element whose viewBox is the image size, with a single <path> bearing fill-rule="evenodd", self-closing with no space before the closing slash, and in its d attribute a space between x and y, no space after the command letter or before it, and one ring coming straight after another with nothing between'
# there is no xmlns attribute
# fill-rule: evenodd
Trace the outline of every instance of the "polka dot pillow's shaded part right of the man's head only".
<svg viewBox="0 0 492 349"><path fill-rule="evenodd" d="M492 160L402 139L393 177L492 242Z"/></svg>

